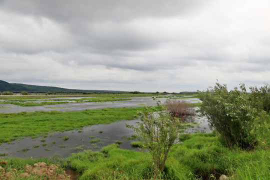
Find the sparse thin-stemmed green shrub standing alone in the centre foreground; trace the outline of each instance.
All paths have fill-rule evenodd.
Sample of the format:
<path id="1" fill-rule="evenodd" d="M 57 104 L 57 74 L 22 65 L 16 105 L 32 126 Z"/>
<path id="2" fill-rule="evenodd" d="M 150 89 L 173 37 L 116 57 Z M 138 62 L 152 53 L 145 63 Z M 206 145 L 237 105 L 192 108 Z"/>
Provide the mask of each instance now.
<path id="1" fill-rule="evenodd" d="M 126 127 L 138 134 L 138 141 L 152 158 L 152 172 L 159 178 L 162 176 L 168 152 L 178 137 L 180 122 L 163 111 L 160 101 L 157 101 L 157 107 L 145 106 L 139 114 L 141 122 L 136 126 L 126 124 Z"/>

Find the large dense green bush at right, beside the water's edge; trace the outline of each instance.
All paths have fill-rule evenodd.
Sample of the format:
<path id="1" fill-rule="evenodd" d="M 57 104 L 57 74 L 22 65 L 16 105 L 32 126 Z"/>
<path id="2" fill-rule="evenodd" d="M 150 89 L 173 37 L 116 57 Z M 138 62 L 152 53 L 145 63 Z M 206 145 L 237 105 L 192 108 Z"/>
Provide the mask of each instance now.
<path id="1" fill-rule="evenodd" d="M 247 148 L 255 139 L 251 129 L 256 110 L 249 104 L 244 84 L 240 89 L 228 91 L 226 84 L 216 82 L 214 87 L 198 91 L 197 96 L 202 101 L 199 111 L 207 116 L 210 127 L 222 135 L 226 144 Z"/>

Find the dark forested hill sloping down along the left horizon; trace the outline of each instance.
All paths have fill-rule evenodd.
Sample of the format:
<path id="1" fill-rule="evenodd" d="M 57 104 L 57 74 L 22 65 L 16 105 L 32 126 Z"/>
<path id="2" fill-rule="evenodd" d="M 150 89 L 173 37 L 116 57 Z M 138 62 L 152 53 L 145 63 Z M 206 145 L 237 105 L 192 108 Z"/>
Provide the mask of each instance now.
<path id="1" fill-rule="evenodd" d="M 8 83 L 6 81 L 0 80 L 0 92 L 10 91 L 10 92 L 123 92 L 117 90 L 81 90 L 81 89 L 67 89 L 61 87 L 53 86 L 42 86 L 42 85 L 29 85 L 22 83 Z"/>

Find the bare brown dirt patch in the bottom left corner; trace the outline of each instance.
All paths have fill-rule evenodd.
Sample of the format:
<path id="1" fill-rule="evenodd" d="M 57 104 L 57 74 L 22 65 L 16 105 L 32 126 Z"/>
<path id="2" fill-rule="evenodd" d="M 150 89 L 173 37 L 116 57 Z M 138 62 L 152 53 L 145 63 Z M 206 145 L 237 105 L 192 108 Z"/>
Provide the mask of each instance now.
<path id="1" fill-rule="evenodd" d="M 26 164 L 21 170 L 9 169 L 6 170 L 0 166 L 0 179 L 44 179 L 44 180 L 72 180 L 70 175 L 67 175 L 59 165 L 46 164 L 45 162 L 37 162 L 33 165 Z"/>

